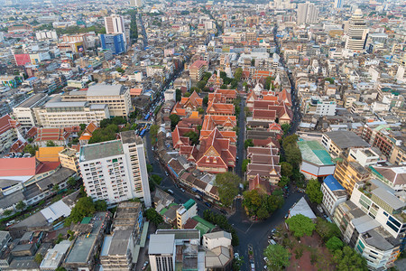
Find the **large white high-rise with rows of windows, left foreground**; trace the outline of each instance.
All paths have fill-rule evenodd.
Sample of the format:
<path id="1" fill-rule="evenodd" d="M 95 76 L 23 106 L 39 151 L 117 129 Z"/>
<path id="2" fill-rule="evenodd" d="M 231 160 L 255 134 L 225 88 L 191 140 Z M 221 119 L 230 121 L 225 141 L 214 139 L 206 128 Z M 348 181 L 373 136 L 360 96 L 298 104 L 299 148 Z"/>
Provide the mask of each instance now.
<path id="1" fill-rule="evenodd" d="M 88 196 L 108 204 L 139 198 L 151 207 L 143 140 L 134 131 L 80 147 L 79 167 Z"/>

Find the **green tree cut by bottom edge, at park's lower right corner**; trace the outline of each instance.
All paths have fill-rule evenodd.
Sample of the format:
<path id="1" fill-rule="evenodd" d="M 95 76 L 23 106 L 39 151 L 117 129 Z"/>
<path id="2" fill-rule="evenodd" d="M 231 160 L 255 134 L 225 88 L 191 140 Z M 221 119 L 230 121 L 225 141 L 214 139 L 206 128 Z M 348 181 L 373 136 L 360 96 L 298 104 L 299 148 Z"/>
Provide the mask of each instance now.
<path id="1" fill-rule="evenodd" d="M 337 249 L 333 254 L 333 260 L 337 264 L 337 270 L 340 271 L 368 270 L 365 258 L 348 246 Z"/>

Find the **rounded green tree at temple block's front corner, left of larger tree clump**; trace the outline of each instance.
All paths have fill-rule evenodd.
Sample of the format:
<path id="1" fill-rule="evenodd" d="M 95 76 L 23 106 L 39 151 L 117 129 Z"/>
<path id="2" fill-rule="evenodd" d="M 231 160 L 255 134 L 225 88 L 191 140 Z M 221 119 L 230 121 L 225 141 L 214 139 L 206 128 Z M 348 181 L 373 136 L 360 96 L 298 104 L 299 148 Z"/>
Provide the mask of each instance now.
<path id="1" fill-rule="evenodd" d="M 225 206 L 231 206 L 235 196 L 238 194 L 240 177 L 234 173 L 219 173 L 216 175 L 218 197 Z"/>

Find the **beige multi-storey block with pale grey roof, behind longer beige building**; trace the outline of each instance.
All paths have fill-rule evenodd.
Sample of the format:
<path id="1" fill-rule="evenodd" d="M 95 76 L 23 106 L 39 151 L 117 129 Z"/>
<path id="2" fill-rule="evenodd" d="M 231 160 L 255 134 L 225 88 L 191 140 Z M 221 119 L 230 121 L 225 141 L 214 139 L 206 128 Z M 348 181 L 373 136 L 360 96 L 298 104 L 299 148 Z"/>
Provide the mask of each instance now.
<path id="1" fill-rule="evenodd" d="M 122 85 L 96 84 L 86 91 L 70 91 L 62 101 L 88 101 L 89 105 L 107 105 L 112 117 L 126 117 L 132 110 L 130 90 Z"/>

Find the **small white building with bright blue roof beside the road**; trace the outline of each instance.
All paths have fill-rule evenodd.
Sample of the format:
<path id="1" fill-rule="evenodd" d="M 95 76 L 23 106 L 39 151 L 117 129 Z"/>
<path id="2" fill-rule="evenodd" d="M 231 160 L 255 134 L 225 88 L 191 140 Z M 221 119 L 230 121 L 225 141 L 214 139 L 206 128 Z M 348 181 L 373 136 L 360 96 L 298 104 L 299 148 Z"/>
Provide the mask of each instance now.
<path id="1" fill-rule="evenodd" d="M 346 201 L 346 189 L 333 175 L 329 175 L 324 179 L 321 185 L 321 192 L 323 192 L 322 203 L 330 215 L 334 214 L 338 204 Z"/>

